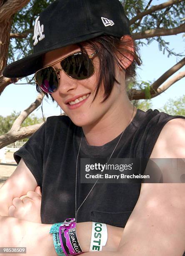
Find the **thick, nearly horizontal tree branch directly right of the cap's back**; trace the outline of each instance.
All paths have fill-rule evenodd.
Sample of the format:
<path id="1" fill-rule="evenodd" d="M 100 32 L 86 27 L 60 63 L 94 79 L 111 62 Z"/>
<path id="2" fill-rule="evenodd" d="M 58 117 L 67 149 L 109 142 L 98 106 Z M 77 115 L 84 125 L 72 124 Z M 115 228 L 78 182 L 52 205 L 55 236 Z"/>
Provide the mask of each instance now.
<path id="1" fill-rule="evenodd" d="M 177 35 L 179 33 L 185 32 L 185 23 L 178 26 L 177 28 L 156 28 L 150 29 L 144 32 L 133 33 L 132 38 L 134 40 L 143 39 L 143 38 L 150 38 L 154 36 L 170 36 L 170 35 Z"/>

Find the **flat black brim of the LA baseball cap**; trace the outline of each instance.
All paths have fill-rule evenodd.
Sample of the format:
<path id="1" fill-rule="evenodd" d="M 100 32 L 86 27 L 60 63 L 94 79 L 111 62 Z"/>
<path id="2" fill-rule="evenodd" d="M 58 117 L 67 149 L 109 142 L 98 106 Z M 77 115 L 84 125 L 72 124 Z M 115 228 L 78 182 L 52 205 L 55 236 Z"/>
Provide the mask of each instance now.
<path id="1" fill-rule="evenodd" d="M 27 77 L 31 74 L 34 74 L 38 69 L 42 68 L 42 56 L 49 52 L 53 51 L 65 46 L 69 46 L 72 44 L 77 44 L 92 38 L 95 38 L 97 36 L 102 35 L 103 32 L 96 32 L 93 34 L 81 36 L 79 38 L 74 38 L 73 40 L 66 41 L 63 43 L 60 43 L 58 45 L 52 46 L 50 48 L 47 48 L 39 53 L 31 54 L 30 56 L 27 56 L 23 59 L 19 59 L 18 61 L 15 61 L 11 64 L 9 64 L 3 71 L 3 76 L 8 78 L 21 78 L 21 77 Z"/>

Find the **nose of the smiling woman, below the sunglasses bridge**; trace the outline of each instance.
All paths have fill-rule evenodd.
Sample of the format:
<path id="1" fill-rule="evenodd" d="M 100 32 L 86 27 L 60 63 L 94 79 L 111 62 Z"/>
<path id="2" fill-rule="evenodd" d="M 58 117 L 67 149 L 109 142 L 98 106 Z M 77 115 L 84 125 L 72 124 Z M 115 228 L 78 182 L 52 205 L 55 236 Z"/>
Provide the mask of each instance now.
<path id="1" fill-rule="evenodd" d="M 67 94 L 70 90 L 77 88 L 77 80 L 69 77 L 62 69 L 58 71 L 59 75 L 59 88 L 58 91 L 61 94 Z"/>

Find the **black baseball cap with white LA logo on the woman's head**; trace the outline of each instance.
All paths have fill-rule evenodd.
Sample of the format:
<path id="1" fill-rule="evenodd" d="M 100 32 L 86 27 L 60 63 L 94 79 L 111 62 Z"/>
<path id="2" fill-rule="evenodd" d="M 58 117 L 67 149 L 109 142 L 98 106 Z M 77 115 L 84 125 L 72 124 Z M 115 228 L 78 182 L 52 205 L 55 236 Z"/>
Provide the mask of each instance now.
<path id="1" fill-rule="evenodd" d="M 129 20 L 119 0 L 55 0 L 35 20 L 33 54 L 8 65 L 4 77 L 34 74 L 43 54 L 95 38 L 130 35 Z"/>

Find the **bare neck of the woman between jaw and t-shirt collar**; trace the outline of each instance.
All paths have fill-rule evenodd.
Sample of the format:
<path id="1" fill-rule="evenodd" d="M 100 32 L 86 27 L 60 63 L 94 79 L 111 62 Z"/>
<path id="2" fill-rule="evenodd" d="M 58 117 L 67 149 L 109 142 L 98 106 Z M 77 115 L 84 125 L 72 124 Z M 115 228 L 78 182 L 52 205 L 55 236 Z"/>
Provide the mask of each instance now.
<path id="1" fill-rule="evenodd" d="M 112 141 L 132 122 L 136 111 L 130 101 L 124 102 L 93 125 L 83 126 L 87 143 L 91 146 L 102 146 Z"/>

